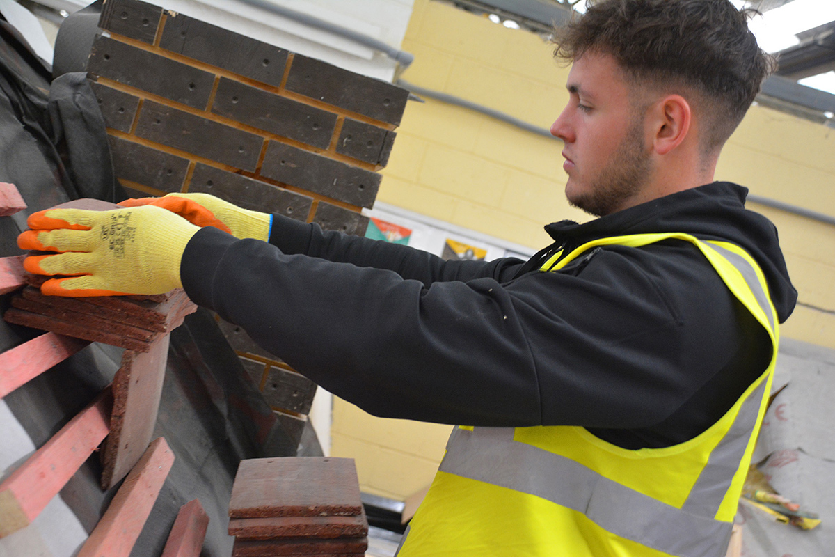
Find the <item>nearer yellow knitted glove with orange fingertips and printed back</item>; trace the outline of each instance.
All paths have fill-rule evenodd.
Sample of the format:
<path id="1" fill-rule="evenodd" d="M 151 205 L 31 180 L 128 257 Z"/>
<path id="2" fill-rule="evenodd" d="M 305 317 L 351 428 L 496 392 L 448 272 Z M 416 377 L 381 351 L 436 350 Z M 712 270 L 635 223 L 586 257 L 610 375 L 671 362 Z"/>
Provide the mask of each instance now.
<path id="1" fill-rule="evenodd" d="M 73 276 L 44 282 L 41 291 L 50 296 L 162 294 L 180 288 L 180 260 L 200 230 L 159 207 L 48 209 L 27 222 L 32 230 L 18 236 L 18 246 L 61 253 L 29 256 L 26 270 Z"/>

